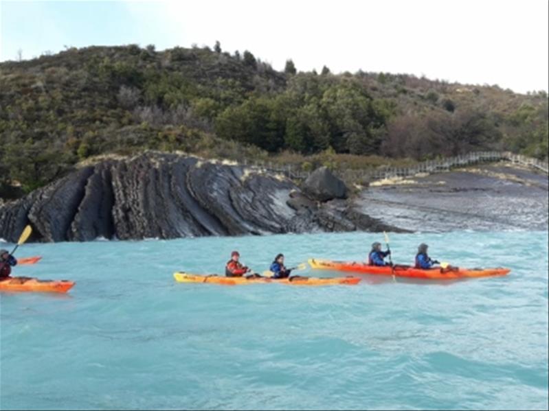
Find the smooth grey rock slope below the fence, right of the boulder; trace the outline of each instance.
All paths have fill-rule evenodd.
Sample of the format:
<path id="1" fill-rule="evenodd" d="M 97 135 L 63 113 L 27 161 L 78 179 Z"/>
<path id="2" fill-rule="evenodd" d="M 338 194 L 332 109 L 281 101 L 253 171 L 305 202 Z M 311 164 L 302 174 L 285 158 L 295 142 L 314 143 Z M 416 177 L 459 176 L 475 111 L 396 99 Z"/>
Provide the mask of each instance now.
<path id="1" fill-rule="evenodd" d="M 548 229 L 548 176 L 504 163 L 375 182 L 355 202 L 410 231 Z"/>

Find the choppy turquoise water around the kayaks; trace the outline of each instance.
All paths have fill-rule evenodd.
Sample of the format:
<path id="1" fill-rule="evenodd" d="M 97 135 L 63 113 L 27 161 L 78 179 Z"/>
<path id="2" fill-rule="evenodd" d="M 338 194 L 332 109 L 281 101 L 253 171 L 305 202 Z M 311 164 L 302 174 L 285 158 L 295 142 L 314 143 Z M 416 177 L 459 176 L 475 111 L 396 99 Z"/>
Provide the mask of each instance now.
<path id="1" fill-rule="evenodd" d="M 0 408 L 548 408 L 548 233 L 392 234 L 507 277 L 355 287 L 175 283 L 232 249 L 261 271 L 279 251 L 361 259 L 370 233 L 25 244 L 18 275 L 66 296 L 0 294 Z M 304 274 L 309 272 L 305 271 Z M 330 272 L 315 272 L 330 275 Z"/>

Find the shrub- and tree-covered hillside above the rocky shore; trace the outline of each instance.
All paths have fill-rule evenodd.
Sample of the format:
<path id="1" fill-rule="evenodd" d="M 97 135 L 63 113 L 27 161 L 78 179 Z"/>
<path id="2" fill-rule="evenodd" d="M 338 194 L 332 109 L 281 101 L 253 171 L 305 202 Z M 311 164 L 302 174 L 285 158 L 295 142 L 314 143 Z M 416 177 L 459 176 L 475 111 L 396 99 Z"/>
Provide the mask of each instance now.
<path id="1" fill-rule="evenodd" d="M 547 121 L 544 92 L 296 73 L 291 62 L 278 72 L 219 44 L 67 49 L 0 64 L 0 196 L 14 183 L 32 191 L 90 156 L 151 149 L 274 161 L 335 152 L 335 161 L 365 164 L 485 149 L 544 158 Z"/>

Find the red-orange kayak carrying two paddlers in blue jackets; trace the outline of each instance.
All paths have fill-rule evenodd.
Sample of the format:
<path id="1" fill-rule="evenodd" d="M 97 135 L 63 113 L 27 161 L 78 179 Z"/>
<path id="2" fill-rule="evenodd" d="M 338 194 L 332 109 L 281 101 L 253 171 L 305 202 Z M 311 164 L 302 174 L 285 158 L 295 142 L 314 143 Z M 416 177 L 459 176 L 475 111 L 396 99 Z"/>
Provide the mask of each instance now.
<path id="1" fill-rule="evenodd" d="M 331 261 L 323 259 L 310 259 L 309 265 L 315 270 L 334 270 L 345 272 L 357 272 L 361 274 L 393 275 L 395 277 L 410 277 L 429 280 L 454 280 L 464 278 L 495 277 L 506 275 L 511 270 L 508 268 L 414 268 L 412 266 L 369 266 L 358 261 Z"/>

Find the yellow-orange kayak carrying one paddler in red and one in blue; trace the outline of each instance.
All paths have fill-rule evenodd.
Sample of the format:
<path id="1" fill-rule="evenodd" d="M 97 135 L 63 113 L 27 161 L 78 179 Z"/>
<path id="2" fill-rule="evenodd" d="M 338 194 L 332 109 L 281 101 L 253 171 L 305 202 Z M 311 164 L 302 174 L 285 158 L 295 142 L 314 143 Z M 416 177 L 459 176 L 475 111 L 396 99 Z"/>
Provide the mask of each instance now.
<path id="1" fill-rule="evenodd" d="M 286 285 L 356 285 L 360 282 L 358 277 L 333 277 L 327 279 L 313 277 L 297 277 L 295 279 L 270 279 L 269 277 L 222 277 L 217 274 L 203 275 L 190 274 L 188 272 L 175 272 L 173 274 L 178 283 L 211 283 L 221 285 L 248 285 L 262 283 L 278 283 Z"/>

